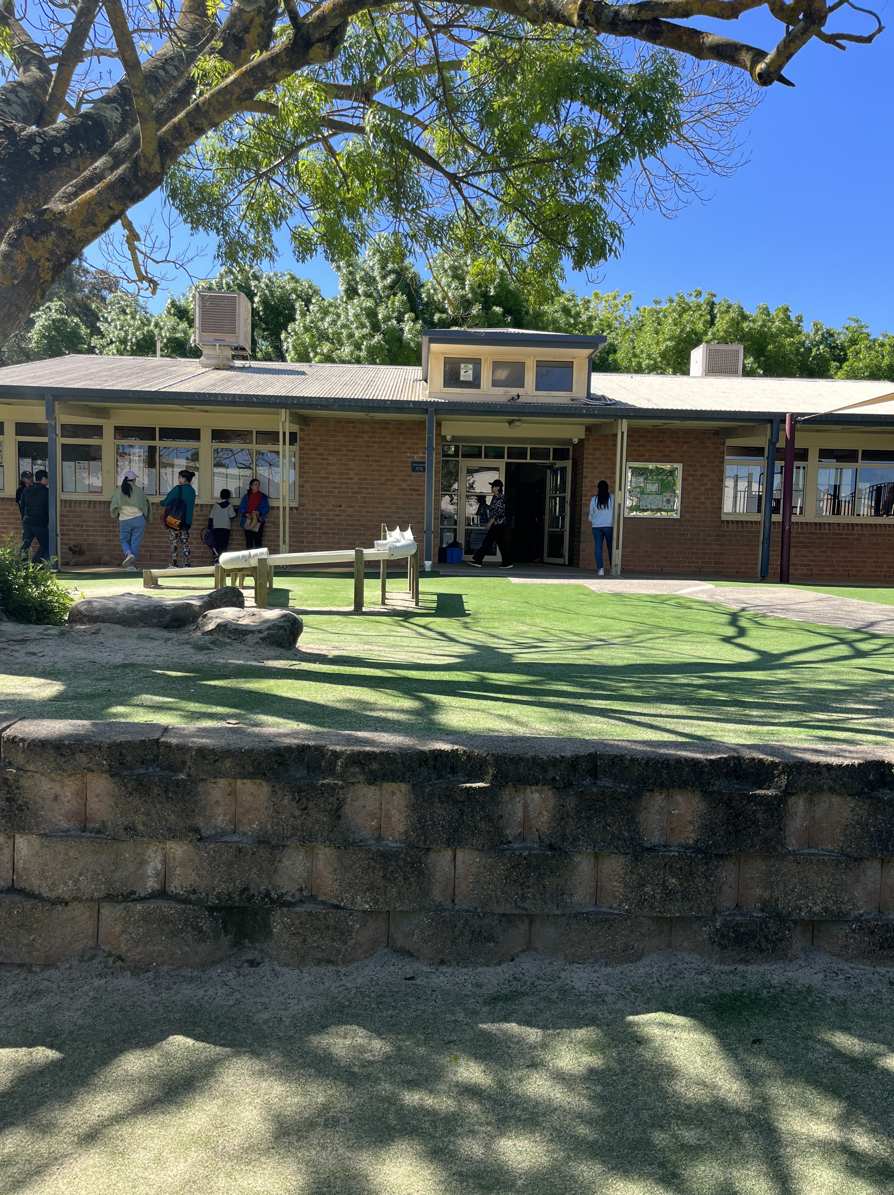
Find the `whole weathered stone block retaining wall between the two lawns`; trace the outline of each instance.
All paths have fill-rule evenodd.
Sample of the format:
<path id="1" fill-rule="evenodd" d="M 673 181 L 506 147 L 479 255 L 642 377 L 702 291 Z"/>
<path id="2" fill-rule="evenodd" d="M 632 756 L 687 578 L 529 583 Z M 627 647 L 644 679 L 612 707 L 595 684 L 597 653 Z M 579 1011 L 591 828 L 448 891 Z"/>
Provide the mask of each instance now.
<path id="1" fill-rule="evenodd" d="M 0 731 L 6 964 L 894 961 L 894 752 Z"/>

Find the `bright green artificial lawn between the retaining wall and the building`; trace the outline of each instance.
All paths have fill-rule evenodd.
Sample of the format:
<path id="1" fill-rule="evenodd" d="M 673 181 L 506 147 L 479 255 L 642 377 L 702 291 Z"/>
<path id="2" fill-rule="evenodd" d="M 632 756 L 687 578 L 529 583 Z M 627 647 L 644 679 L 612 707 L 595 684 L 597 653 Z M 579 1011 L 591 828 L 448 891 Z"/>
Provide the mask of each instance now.
<path id="1" fill-rule="evenodd" d="M 206 587 L 189 580 L 189 589 L 184 578 L 183 590 L 164 592 Z M 0 707 L 25 717 L 237 717 L 412 734 L 887 744 L 894 733 L 887 636 L 502 576 L 423 576 L 421 609 L 390 617 L 325 609 L 350 603 L 349 577 L 278 584 L 307 611 L 306 650 L 290 660 L 239 662 L 233 644 L 182 637 L 173 668 L 125 652 L 114 664 L 73 667 L 41 644 L 24 657 L 32 680 L 19 664 L 0 675 Z M 79 588 L 136 586 L 103 577 Z M 376 600 L 378 580 L 369 580 L 367 601 Z"/>

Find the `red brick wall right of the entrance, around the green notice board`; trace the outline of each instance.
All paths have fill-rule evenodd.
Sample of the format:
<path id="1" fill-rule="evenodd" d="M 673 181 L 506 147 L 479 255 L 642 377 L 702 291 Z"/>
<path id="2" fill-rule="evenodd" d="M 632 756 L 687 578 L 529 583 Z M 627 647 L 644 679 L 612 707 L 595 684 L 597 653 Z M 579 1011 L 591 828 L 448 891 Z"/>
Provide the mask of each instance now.
<path id="1" fill-rule="evenodd" d="M 580 560 L 593 568 L 589 500 L 605 478 L 614 490 L 616 437 L 584 441 Z M 721 519 L 724 443 L 717 431 L 630 428 L 629 461 L 682 464 L 680 517 L 624 520 L 625 572 L 755 577 L 760 522 Z M 773 523 L 770 577 L 779 576 L 779 522 Z M 875 523 L 792 521 L 791 577 L 894 580 L 894 520 Z"/>

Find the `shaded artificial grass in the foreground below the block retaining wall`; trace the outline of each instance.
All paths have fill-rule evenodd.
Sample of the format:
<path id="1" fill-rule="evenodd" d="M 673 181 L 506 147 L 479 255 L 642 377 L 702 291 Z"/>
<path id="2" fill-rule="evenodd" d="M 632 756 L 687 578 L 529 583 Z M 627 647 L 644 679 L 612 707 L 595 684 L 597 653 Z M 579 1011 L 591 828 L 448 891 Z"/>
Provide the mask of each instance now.
<path id="1" fill-rule="evenodd" d="M 0 973 L 2 1195 L 880 1195 L 894 981 L 832 960 Z"/>

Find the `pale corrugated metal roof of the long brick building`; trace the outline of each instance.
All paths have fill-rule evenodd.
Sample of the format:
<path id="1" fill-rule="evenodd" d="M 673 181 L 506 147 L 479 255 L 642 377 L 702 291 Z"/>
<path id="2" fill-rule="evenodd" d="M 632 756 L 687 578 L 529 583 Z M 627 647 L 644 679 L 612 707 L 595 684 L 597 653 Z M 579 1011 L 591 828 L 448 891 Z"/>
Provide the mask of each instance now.
<path id="1" fill-rule="evenodd" d="M 868 399 L 892 396 L 883 403 L 847 412 L 861 422 L 890 421 L 894 386 L 884 381 L 829 381 L 809 378 L 688 378 L 667 374 L 593 374 L 594 405 L 578 402 L 538 403 L 532 398 L 515 407 L 483 394 L 430 399 L 418 366 L 301 364 L 262 362 L 231 369 L 202 369 L 194 358 L 65 356 L 49 361 L 0 368 L 0 393 L 53 393 L 106 402 L 188 402 L 197 396 L 227 402 L 245 397 L 255 403 L 278 405 L 327 404 L 402 405 L 467 410 L 485 415 L 497 411 L 543 412 L 593 418 L 629 413 L 697 418 L 712 415 L 772 416 L 788 411 L 815 415 L 852 406 Z M 598 405 L 599 397 L 607 402 Z"/>

